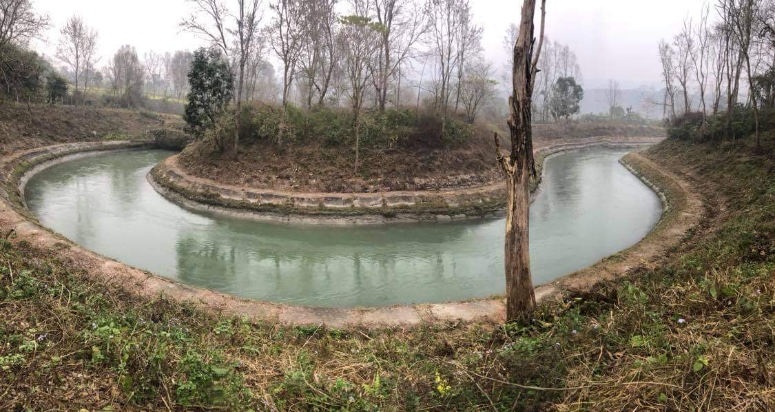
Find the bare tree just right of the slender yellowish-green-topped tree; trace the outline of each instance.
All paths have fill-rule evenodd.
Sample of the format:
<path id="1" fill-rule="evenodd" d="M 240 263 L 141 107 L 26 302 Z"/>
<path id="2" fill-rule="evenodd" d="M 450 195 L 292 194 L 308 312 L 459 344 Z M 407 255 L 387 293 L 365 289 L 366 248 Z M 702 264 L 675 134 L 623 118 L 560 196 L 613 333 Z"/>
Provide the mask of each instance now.
<path id="1" fill-rule="evenodd" d="M 380 32 L 380 49 L 375 64 L 371 65 L 377 108 L 384 111 L 387 89 L 392 78 L 401 82 L 401 65 L 414 57 L 416 46 L 427 31 L 425 15 L 415 0 L 360 0 L 373 2 Z M 398 86 L 400 89 L 400 86 Z M 396 99 L 398 105 L 398 98 Z"/>

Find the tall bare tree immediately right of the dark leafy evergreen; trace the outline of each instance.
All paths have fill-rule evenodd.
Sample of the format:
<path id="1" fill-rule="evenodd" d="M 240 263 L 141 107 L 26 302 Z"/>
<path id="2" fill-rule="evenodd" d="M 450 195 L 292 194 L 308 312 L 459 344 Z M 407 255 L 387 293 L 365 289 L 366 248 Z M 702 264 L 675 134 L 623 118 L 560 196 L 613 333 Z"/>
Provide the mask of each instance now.
<path id="1" fill-rule="evenodd" d="M 245 82 L 245 66 L 263 18 L 260 0 L 236 0 L 236 12 L 229 12 L 219 0 L 188 0 L 195 12 L 181 22 L 181 27 L 202 36 L 212 46 L 223 50 L 232 74 L 236 74 L 236 111 L 234 112 L 234 150 L 239 148 L 239 112 Z M 202 21 L 204 16 L 206 22 Z M 230 24 L 230 22 L 232 24 Z"/>

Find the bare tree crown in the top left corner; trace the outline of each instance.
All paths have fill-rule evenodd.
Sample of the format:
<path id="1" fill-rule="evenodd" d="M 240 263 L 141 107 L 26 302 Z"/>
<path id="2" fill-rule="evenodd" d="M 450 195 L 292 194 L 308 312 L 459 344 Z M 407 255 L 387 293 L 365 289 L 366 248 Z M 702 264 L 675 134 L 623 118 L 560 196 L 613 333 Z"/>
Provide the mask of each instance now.
<path id="1" fill-rule="evenodd" d="M 39 15 L 30 0 L 0 0 L 0 47 L 25 45 L 47 29 L 48 15 Z"/>

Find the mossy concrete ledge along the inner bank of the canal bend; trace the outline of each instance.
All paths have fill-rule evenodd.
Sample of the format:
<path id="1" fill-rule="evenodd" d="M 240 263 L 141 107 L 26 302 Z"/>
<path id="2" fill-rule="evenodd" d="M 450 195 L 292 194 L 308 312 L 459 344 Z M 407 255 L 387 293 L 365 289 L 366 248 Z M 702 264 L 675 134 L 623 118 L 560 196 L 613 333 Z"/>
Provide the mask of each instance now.
<path id="1" fill-rule="evenodd" d="M 654 138 L 591 138 L 549 144 L 536 149 L 536 167 L 557 153 L 591 146 L 639 146 Z M 238 187 L 191 176 L 177 155 L 162 160 L 148 173 L 151 186 L 170 201 L 195 211 L 292 225 L 385 225 L 447 223 L 504 215 L 505 182 L 441 191 L 381 193 L 301 193 Z M 533 189 L 539 187 L 540 178 Z"/>

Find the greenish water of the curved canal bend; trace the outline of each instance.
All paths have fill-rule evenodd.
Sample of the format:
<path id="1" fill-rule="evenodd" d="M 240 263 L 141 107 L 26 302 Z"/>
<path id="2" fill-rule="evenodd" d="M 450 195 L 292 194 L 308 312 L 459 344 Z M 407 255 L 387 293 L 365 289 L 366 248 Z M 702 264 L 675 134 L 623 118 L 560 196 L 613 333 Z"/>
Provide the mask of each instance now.
<path id="1" fill-rule="evenodd" d="M 660 200 L 592 147 L 546 160 L 530 209 L 536 284 L 642 239 Z M 318 307 L 437 303 L 502 294 L 503 219 L 444 225 L 289 226 L 192 212 L 150 187 L 171 153 L 100 153 L 49 167 L 26 185 L 43 225 L 161 276 L 239 297 Z"/>

